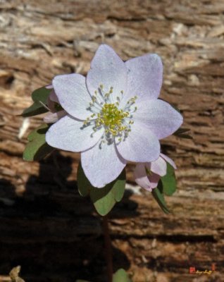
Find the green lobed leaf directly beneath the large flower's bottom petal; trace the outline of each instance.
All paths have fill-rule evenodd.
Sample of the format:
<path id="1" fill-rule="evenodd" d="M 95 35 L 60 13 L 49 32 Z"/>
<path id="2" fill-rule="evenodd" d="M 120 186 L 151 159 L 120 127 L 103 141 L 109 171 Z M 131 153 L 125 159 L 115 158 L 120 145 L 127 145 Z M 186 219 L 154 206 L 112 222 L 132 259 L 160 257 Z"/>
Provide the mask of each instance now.
<path id="1" fill-rule="evenodd" d="M 95 209 L 101 216 L 106 216 L 116 202 L 122 200 L 125 192 L 125 169 L 113 182 L 108 183 L 104 188 L 96 188 L 89 182 L 79 164 L 77 169 L 77 187 L 83 197 L 89 195 Z"/>

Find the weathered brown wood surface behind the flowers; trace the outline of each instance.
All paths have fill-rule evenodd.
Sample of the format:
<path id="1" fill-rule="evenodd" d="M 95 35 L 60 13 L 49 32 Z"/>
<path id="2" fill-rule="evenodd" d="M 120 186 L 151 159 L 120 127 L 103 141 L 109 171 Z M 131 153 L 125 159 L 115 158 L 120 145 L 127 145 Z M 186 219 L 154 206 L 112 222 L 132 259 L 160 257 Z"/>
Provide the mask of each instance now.
<path id="1" fill-rule="evenodd" d="M 161 56 L 161 97 L 178 105 L 194 140 L 169 137 L 178 192 L 164 215 L 150 193 L 127 192 L 110 219 L 114 270 L 134 282 L 224 281 L 223 0 L 0 1 L 0 281 L 13 266 L 29 281 L 106 281 L 101 221 L 75 184 L 78 154 L 22 158 L 30 93 L 61 73 L 86 74 L 101 42 L 124 59 Z M 188 274 L 189 266 L 211 276 Z"/>

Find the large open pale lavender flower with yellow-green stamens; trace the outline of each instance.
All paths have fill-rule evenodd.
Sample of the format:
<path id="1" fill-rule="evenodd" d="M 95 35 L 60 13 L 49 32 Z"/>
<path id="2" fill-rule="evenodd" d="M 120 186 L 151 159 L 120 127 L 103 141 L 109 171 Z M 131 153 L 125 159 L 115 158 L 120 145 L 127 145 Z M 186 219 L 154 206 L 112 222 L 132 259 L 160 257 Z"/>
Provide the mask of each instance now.
<path id="1" fill-rule="evenodd" d="M 158 99 L 163 65 L 156 54 L 123 62 L 102 44 L 87 78 L 57 75 L 52 85 L 66 116 L 51 125 L 51 147 L 81 152 L 81 164 L 97 188 L 116 179 L 127 161 L 158 159 L 160 143 L 182 124 L 182 116 Z"/>

